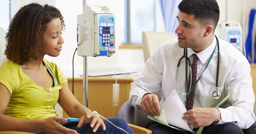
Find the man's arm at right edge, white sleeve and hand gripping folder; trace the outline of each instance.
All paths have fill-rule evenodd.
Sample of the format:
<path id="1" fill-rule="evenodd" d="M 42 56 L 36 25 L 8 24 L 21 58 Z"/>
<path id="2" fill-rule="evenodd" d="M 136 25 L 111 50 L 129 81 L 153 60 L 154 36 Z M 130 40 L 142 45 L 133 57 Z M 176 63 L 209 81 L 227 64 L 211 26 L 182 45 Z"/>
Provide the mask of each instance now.
<path id="1" fill-rule="evenodd" d="M 249 128 L 255 122 L 253 113 L 254 93 L 248 61 L 232 65 L 227 77 L 227 91 L 230 93 L 227 108 L 193 108 L 184 113 L 182 119 L 189 119 L 188 124 L 204 127 L 211 123 L 234 123 L 241 129 Z"/>

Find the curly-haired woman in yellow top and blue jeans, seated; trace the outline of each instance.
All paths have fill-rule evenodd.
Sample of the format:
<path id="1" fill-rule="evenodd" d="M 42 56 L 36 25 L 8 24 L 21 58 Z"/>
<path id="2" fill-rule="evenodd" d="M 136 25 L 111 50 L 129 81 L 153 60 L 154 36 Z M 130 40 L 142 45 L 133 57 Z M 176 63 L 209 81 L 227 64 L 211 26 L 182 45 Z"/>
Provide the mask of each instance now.
<path id="1" fill-rule="evenodd" d="M 4 53 L 8 60 L 0 67 L 0 130 L 124 133 L 81 105 L 60 68 L 44 59 L 44 55 L 60 55 L 63 27 L 60 11 L 47 4 L 28 4 L 12 19 Z M 70 117 L 80 118 L 78 125 L 64 127 L 58 123 L 67 119 L 56 114 L 57 102 Z M 108 120 L 133 133 L 123 119 Z"/>

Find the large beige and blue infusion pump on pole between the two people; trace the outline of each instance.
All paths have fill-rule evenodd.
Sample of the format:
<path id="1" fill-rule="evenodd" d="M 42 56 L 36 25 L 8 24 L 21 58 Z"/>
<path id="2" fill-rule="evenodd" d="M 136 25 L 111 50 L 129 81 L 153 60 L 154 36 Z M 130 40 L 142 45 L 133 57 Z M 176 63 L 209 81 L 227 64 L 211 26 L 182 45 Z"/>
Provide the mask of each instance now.
<path id="1" fill-rule="evenodd" d="M 77 15 L 77 54 L 112 56 L 115 53 L 115 16 L 106 6 L 100 7 L 100 11 L 92 8 L 84 5 L 83 14 Z"/>

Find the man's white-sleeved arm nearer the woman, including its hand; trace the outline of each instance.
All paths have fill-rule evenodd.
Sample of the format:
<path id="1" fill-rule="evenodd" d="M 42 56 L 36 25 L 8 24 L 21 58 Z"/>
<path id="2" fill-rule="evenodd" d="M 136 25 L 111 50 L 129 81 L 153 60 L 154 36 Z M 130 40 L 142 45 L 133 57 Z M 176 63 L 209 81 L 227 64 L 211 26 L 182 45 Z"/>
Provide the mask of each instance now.
<path id="1" fill-rule="evenodd" d="M 145 94 L 149 93 L 148 95 L 153 95 L 153 93 L 156 93 L 159 90 L 161 90 L 163 64 L 164 64 L 163 61 L 164 61 L 164 50 L 163 50 L 163 47 L 160 46 L 159 48 L 156 49 L 154 54 L 146 61 L 144 71 L 140 75 L 140 77 L 137 78 L 134 83 L 132 83 L 132 88 L 130 90 L 130 103 L 132 104 L 133 107 L 137 109 L 143 109 L 146 113 L 151 113 L 151 114 L 154 113 L 152 112 L 154 110 L 151 110 L 150 109 L 151 107 L 149 107 L 149 106 L 152 106 L 152 107 L 154 106 L 152 101 L 148 101 L 147 104 L 143 103 L 145 105 L 148 105 L 148 108 L 149 108 L 148 110 L 151 112 L 149 112 L 146 109 L 146 107 L 144 107 L 145 105 L 143 107 L 141 106 L 141 101 L 142 101 L 142 97 Z M 158 102 L 155 101 L 155 103 L 159 105 L 159 109 L 160 109 L 158 97 L 157 97 L 157 101 Z"/>

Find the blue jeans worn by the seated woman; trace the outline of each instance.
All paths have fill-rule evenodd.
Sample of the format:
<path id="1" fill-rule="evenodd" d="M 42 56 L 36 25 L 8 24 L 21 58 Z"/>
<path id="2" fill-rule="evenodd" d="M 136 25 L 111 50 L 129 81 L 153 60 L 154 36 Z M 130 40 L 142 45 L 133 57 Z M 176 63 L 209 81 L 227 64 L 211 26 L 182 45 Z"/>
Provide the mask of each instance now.
<path id="1" fill-rule="evenodd" d="M 124 129 L 129 134 L 134 134 L 132 129 L 128 126 L 128 124 L 122 118 L 107 118 L 110 122 L 115 124 L 116 126 Z M 93 128 L 90 127 L 90 123 L 84 123 L 82 127 L 77 128 L 77 124 L 66 126 L 69 129 L 76 130 L 80 134 L 126 134 L 124 131 L 114 127 L 105 119 L 103 120 L 106 125 L 106 130 L 103 131 L 100 126 L 99 129 L 94 133 L 92 131 Z M 37 134 L 47 134 L 46 132 L 37 132 Z"/>

